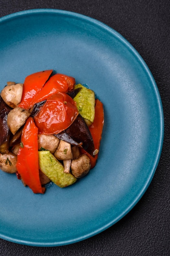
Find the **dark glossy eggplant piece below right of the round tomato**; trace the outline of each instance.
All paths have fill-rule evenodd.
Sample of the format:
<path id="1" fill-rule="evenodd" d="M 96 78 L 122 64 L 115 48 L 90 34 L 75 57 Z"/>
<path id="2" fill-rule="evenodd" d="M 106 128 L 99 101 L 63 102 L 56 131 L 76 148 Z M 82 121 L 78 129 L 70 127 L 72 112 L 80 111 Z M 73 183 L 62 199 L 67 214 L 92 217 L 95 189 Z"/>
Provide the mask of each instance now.
<path id="1" fill-rule="evenodd" d="M 87 124 L 80 114 L 67 129 L 55 134 L 55 136 L 74 146 L 76 145 L 83 148 L 87 153 L 94 157 L 94 141 Z"/>

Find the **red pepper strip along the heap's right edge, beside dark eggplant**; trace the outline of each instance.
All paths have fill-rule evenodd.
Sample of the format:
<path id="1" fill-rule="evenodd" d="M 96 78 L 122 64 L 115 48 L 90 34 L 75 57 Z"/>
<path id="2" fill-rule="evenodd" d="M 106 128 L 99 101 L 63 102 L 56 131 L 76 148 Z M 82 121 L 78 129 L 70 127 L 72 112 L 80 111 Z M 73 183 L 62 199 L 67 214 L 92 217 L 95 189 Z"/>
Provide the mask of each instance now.
<path id="1" fill-rule="evenodd" d="M 96 165 L 96 161 L 98 159 L 98 150 L 100 148 L 100 141 L 102 139 L 103 125 L 104 125 L 103 104 L 101 101 L 96 99 L 94 122 L 91 126 L 89 126 L 89 130 L 92 134 L 92 138 L 94 141 L 94 148 L 95 148 L 97 154 L 94 155 L 94 157 L 92 157 L 83 148 L 80 149 L 81 153 L 88 155 L 88 157 L 90 158 L 91 169 Z"/>

